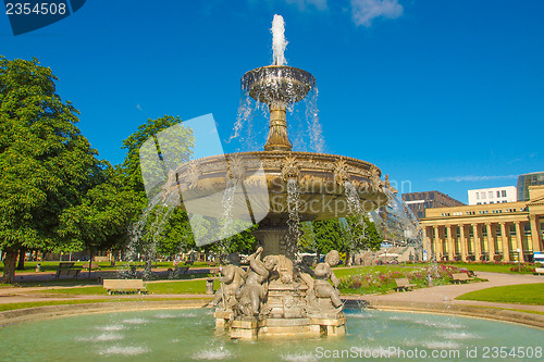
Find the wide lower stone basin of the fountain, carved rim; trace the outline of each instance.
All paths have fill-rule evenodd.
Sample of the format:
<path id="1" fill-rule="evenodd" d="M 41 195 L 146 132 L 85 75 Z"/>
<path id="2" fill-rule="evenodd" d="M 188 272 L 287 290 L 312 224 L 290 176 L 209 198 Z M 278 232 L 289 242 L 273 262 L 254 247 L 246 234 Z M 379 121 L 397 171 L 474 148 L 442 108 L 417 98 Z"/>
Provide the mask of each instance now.
<path id="1" fill-rule="evenodd" d="M 286 221 L 288 178 L 298 183 L 301 221 L 348 215 L 346 180 L 356 187 L 363 211 L 387 202 L 380 168 L 366 161 L 325 153 L 231 153 L 190 161 L 175 173 L 177 180 L 171 179 L 165 189 L 181 195 L 180 205 L 188 212 L 211 217 L 222 217 L 222 200 L 232 177 L 242 180 L 232 202 L 232 217 L 239 220 L 247 220 L 249 205 L 256 215 L 254 221 L 265 216 L 277 223 Z"/>

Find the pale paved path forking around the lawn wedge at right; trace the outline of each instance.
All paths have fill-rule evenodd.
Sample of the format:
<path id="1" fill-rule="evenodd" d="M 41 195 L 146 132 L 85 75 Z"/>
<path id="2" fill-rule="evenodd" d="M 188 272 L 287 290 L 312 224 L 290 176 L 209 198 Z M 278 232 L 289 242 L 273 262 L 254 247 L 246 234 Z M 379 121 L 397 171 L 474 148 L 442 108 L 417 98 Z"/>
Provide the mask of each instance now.
<path id="1" fill-rule="evenodd" d="M 412 291 L 390 292 L 386 295 L 363 296 L 362 299 L 375 303 L 444 303 L 444 304 L 462 304 L 462 305 L 480 305 L 494 307 L 503 309 L 519 309 L 544 312 L 544 305 L 524 305 L 524 304 L 507 304 L 507 303 L 491 303 L 483 301 L 471 300 L 455 300 L 456 297 L 469 291 L 480 290 L 491 287 L 498 287 L 515 284 L 532 284 L 544 283 L 544 277 L 540 275 L 528 274 L 503 274 L 477 272 L 478 277 L 487 279 L 489 282 L 470 283 L 470 284 L 452 284 L 431 288 L 415 289 Z"/>

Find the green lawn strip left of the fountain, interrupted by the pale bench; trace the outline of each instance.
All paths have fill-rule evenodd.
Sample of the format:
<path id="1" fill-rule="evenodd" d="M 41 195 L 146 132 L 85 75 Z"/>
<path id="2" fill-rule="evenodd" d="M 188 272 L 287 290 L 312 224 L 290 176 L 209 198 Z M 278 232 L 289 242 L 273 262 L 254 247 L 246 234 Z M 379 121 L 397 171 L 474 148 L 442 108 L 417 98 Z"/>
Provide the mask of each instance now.
<path id="1" fill-rule="evenodd" d="M 219 282 L 214 280 L 214 290 L 219 288 Z M 183 280 L 183 282 L 164 282 L 164 283 L 145 283 L 148 294 L 150 295 L 184 295 L 184 294 L 205 294 L 206 279 L 200 280 Z M 108 291 L 102 286 L 88 286 L 78 288 L 59 288 L 47 290 L 33 290 L 29 294 L 54 294 L 70 296 L 89 296 L 89 295 L 108 295 Z"/>

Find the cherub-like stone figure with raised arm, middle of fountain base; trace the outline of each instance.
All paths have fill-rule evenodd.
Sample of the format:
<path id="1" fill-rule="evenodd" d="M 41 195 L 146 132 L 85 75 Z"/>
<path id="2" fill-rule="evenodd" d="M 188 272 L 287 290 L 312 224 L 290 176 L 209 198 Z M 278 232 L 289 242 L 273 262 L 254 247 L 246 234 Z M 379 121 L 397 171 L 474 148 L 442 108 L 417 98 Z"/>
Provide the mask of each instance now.
<path id="1" fill-rule="evenodd" d="M 267 280 L 270 273 L 277 264 L 274 255 L 268 255 L 261 261 L 262 247 L 248 257 L 249 271 L 246 283 L 236 291 L 238 311 L 245 316 L 257 317 L 260 313 L 261 302 L 267 298 Z"/>

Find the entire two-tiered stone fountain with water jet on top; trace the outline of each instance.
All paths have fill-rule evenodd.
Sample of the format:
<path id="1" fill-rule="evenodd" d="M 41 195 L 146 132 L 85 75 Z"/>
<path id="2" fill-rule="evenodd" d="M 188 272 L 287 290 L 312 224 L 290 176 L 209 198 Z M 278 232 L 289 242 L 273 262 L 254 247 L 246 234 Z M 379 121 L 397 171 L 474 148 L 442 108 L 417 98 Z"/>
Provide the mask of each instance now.
<path id="1" fill-rule="evenodd" d="M 274 16 L 273 65 L 242 77 L 243 90 L 270 111 L 264 151 L 190 161 L 178 166 L 177 176 L 163 188 L 182 195 L 182 208 L 205 216 L 219 217 L 218 199 L 211 200 L 210 195 L 224 195 L 222 203 L 234 220 L 256 223 L 255 215 L 263 215 L 254 232 L 260 247 L 248 258 L 249 270 L 239 278 L 236 263 L 225 267 L 215 298 L 217 327 L 228 328 L 232 338 L 344 335 L 338 280 L 331 271 L 338 253 L 330 252 L 314 271 L 297 263 L 299 224 L 370 212 L 387 202 L 375 165 L 292 150 L 287 109 L 307 96 L 316 79 L 304 70 L 284 65 L 283 29 L 283 18 Z"/>

